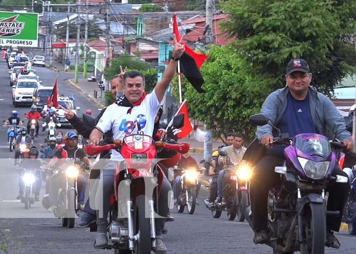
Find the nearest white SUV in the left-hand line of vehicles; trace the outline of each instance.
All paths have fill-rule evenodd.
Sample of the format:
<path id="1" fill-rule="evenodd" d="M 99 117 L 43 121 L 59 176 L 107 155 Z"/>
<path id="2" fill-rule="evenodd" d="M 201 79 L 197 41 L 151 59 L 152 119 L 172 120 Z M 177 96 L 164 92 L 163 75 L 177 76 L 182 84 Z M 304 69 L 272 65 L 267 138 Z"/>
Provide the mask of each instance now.
<path id="1" fill-rule="evenodd" d="M 40 86 L 40 82 L 33 79 L 20 79 L 16 85 L 12 86 L 12 104 L 17 107 L 19 103 L 33 103 L 35 89 Z"/>

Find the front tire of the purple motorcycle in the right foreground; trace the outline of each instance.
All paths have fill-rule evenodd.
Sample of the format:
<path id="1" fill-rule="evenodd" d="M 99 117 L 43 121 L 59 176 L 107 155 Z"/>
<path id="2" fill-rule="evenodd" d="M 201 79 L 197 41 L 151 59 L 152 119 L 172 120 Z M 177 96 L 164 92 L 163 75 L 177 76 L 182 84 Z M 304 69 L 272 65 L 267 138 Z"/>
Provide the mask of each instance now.
<path id="1" fill-rule="evenodd" d="M 324 254 L 327 219 L 322 203 L 309 203 L 303 214 L 306 240 L 301 243 L 301 254 Z"/>

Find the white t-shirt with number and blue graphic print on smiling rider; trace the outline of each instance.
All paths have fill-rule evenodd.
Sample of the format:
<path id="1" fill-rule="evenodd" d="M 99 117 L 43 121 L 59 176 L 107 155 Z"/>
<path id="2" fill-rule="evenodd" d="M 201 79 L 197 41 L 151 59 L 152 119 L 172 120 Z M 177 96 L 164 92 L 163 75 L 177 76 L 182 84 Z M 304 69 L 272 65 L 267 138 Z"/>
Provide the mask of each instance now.
<path id="1" fill-rule="evenodd" d="M 163 101 L 164 99 L 161 103 L 158 102 L 156 92 L 153 91 L 146 95 L 140 105 L 131 109 L 131 114 L 127 113 L 130 107 L 112 104 L 107 107 L 101 116 L 97 128 L 103 133 L 112 129 L 113 138 L 120 140 L 123 140 L 125 136 L 136 134 L 138 131 L 152 136 L 155 117 Z M 112 151 L 110 159 L 115 161 L 124 160 L 121 154 L 115 150 Z"/>

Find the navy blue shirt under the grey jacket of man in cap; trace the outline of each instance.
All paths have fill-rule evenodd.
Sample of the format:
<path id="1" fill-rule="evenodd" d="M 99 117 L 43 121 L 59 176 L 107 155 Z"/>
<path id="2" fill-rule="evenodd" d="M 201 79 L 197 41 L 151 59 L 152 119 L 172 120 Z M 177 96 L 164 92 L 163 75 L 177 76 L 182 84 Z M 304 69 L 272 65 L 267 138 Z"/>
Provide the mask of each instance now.
<path id="1" fill-rule="evenodd" d="M 310 113 L 309 93 L 304 100 L 294 99 L 288 92 L 287 108 L 278 123 L 281 133 L 289 133 L 289 137 L 301 133 L 317 133 Z"/>

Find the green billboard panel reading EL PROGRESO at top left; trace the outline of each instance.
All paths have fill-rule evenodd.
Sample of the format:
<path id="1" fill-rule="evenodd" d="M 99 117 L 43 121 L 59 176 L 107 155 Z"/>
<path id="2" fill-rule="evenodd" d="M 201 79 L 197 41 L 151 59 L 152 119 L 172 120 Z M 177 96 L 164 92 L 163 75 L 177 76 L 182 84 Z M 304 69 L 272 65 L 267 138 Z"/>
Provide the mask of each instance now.
<path id="1" fill-rule="evenodd" d="M 38 13 L 0 12 L 0 45 L 37 47 Z"/>

